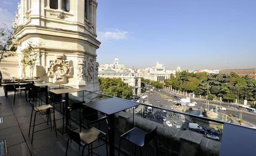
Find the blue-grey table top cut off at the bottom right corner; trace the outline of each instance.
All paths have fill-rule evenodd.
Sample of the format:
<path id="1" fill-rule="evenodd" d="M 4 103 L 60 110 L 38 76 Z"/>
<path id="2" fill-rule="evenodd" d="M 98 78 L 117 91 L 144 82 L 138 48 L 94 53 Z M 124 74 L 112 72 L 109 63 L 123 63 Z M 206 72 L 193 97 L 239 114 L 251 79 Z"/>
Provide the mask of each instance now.
<path id="1" fill-rule="evenodd" d="M 255 155 L 256 129 L 224 123 L 221 155 Z"/>

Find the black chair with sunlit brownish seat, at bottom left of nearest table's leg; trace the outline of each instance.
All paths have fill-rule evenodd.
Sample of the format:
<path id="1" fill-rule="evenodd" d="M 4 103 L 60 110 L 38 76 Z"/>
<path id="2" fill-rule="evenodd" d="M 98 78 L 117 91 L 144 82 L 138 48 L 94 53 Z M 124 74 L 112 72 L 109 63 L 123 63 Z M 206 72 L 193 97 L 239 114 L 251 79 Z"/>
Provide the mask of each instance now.
<path id="1" fill-rule="evenodd" d="M 69 127 L 67 127 L 67 134 L 69 136 L 69 139 L 67 139 L 66 156 L 67 156 L 67 149 L 69 147 L 69 141 L 71 142 L 71 140 L 73 140 L 77 144 L 79 144 L 79 149 L 80 149 L 80 147 L 83 147 L 82 156 L 84 154 L 84 150 L 85 150 L 86 146 L 88 146 L 88 154 L 87 155 L 90 155 L 90 154 L 93 155 L 93 154 L 95 154 L 93 152 L 93 149 L 103 146 L 104 144 L 106 144 L 106 153 L 108 155 L 108 143 L 107 142 L 105 142 L 104 144 L 101 144 L 100 146 L 93 147 L 93 142 L 95 142 L 101 138 L 105 138 L 105 141 L 107 141 L 106 134 L 103 133 L 102 131 L 100 131 L 99 129 L 90 128 L 90 129 L 85 129 L 85 130 L 81 131 L 80 133 L 77 133 L 75 131 L 72 131 L 72 129 L 70 129 Z M 96 154 L 96 155 L 98 155 L 98 154 Z"/>

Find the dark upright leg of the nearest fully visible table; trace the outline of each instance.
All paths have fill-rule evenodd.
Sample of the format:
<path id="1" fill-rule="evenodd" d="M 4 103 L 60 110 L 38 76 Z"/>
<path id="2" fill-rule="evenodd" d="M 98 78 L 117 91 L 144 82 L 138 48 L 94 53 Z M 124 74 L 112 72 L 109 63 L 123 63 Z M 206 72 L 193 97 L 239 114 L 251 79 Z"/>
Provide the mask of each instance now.
<path id="1" fill-rule="evenodd" d="M 109 119 L 109 155 L 114 155 L 114 114 L 108 116 Z"/>

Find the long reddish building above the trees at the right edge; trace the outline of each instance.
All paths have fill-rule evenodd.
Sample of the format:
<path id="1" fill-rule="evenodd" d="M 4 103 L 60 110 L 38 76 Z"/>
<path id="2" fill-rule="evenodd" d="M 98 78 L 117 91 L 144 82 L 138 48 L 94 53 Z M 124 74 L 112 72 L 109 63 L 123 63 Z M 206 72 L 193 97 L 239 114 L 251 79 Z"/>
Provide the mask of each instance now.
<path id="1" fill-rule="evenodd" d="M 244 77 L 248 76 L 256 80 L 256 68 L 249 68 L 249 69 L 228 69 L 228 70 L 221 70 L 220 73 L 230 74 L 230 73 L 237 73 L 237 75 Z"/>

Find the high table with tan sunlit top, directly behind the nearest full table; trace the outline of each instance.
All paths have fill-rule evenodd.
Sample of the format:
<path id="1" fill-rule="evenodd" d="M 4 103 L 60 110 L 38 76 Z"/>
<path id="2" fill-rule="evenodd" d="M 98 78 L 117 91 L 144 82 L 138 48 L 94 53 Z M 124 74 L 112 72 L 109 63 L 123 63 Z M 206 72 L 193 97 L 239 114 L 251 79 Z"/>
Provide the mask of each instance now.
<path id="1" fill-rule="evenodd" d="M 69 110 L 67 109 L 67 107 L 69 107 L 69 93 L 70 92 L 80 92 L 80 91 L 84 91 L 83 89 L 78 89 L 78 88 L 65 88 L 65 89 L 54 89 L 54 90 L 50 90 L 50 92 L 53 92 L 54 94 L 65 94 L 65 112 L 66 112 L 66 129 L 63 129 L 63 131 L 61 131 L 62 134 L 66 133 L 67 130 L 67 124 L 69 123 Z"/>

